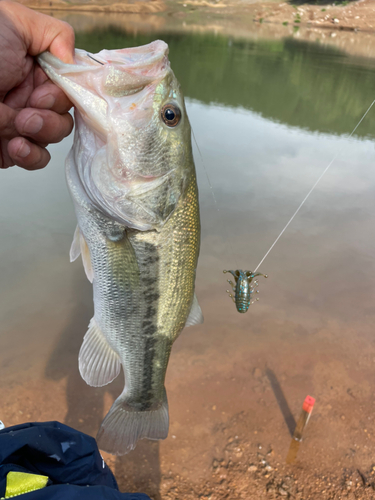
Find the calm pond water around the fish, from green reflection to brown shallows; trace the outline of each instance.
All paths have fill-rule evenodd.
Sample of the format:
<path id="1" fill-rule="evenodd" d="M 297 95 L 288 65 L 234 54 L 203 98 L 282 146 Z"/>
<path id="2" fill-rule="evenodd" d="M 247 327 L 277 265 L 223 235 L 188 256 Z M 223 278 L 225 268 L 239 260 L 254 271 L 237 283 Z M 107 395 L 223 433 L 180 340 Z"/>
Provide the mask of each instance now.
<path id="1" fill-rule="evenodd" d="M 274 469 L 284 467 L 308 394 L 316 405 L 288 474 L 367 474 L 375 439 L 375 107 L 349 136 L 375 97 L 374 61 L 292 38 L 118 27 L 80 31 L 76 45 L 96 52 L 155 38 L 170 46 L 201 153 L 195 147 L 205 323 L 172 351 L 168 439 L 106 456 L 121 489 L 177 498 L 177 478 L 181 498 L 197 498 L 209 481 L 207 498 L 250 498 L 250 473 L 240 493 L 229 465 L 243 472 L 237 485 L 259 447 L 272 449 Z M 71 141 L 51 146 L 44 171 L 1 172 L 0 419 L 60 420 L 95 435 L 122 381 L 93 389 L 78 373 L 92 292 L 81 262 L 68 258 Z M 240 315 L 223 269 L 254 269 L 335 157 L 261 266 L 269 278 L 260 279 L 259 303 Z M 211 479 L 216 460 L 227 468 L 220 481 Z"/>

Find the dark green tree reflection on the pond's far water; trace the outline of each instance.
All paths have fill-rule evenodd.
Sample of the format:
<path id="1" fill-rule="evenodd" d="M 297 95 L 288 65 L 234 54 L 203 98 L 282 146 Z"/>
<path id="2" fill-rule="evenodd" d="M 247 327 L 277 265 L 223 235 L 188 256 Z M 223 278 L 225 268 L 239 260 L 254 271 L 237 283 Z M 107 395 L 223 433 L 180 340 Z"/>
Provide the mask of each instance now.
<path id="1" fill-rule="evenodd" d="M 375 65 L 319 43 L 292 38 L 234 40 L 211 34 L 133 35 L 110 28 L 77 33 L 90 52 L 143 45 L 160 38 L 186 97 L 242 107 L 302 129 L 349 134 L 374 99 Z M 375 113 L 356 132 L 373 137 Z"/>

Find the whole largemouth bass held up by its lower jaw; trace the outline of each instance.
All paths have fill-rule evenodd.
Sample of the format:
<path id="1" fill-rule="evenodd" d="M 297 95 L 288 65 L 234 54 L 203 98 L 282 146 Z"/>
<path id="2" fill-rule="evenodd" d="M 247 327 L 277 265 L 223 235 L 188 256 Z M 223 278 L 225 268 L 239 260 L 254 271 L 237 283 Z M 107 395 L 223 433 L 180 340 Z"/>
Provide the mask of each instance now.
<path id="1" fill-rule="evenodd" d="M 164 439 L 164 387 L 172 344 L 201 323 L 194 294 L 200 244 L 191 130 L 168 46 L 76 50 L 74 65 L 49 53 L 39 63 L 75 105 L 66 176 L 95 313 L 79 353 L 91 386 L 125 373 L 125 387 L 98 432 L 122 455 L 138 439 Z"/>

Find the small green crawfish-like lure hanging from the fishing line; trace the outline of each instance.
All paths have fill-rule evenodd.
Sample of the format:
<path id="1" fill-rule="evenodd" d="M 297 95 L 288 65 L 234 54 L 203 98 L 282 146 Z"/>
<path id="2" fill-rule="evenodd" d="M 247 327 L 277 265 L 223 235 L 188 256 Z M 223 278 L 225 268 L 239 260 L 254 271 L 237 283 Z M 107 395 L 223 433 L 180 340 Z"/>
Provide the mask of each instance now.
<path id="1" fill-rule="evenodd" d="M 231 273 L 235 279 L 235 283 L 231 280 L 227 280 L 232 286 L 234 295 L 230 293 L 230 290 L 227 290 L 227 293 L 229 293 L 229 297 L 231 297 L 233 302 L 236 304 L 237 311 L 240 313 L 247 312 L 250 304 L 259 300 L 258 298 L 251 300 L 253 293 L 259 293 L 259 290 L 254 289 L 254 286 L 258 286 L 258 281 L 256 279 L 254 280 L 254 278 L 257 276 L 264 276 L 267 278 L 267 274 L 242 271 L 242 269 L 237 269 L 236 271 L 224 270 L 223 272 Z"/>

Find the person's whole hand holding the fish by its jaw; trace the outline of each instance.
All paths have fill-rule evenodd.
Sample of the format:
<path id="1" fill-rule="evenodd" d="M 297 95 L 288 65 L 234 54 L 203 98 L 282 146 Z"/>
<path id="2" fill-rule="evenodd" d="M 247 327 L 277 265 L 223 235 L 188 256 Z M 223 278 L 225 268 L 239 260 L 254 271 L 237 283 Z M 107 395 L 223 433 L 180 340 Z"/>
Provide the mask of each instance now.
<path id="1" fill-rule="evenodd" d="M 0 0 L 0 168 L 45 167 L 50 160 L 46 146 L 72 131 L 72 103 L 33 57 L 45 50 L 73 63 L 73 28 Z"/>

